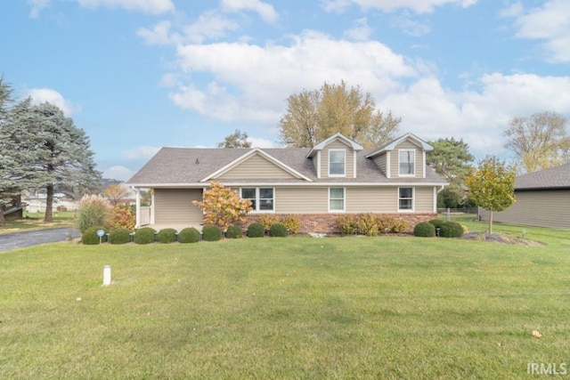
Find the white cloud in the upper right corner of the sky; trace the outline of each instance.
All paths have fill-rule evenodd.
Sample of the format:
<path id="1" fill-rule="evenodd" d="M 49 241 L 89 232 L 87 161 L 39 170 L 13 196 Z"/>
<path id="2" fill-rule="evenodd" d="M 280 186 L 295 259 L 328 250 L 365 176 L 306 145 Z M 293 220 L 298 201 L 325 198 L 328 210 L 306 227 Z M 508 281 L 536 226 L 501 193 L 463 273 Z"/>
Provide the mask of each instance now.
<path id="1" fill-rule="evenodd" d="M 515 4 L 501 14 L 515 17 L 517 37 L 543 41 L 550 61 L 570 62 L 570 2 L 551 0 L 528 12 Z"/>

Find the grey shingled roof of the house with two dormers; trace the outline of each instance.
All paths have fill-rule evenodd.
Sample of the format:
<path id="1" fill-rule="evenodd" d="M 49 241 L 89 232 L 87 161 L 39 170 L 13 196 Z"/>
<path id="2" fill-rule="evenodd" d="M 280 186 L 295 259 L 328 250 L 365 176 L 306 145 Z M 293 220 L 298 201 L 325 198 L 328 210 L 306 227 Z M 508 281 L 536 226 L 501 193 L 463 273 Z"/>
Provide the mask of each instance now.
<path id="1" fill-rule="evenodd" d="M 356 155 L 356 176 L 357 178 L 317 178 L 312 159 L 306 158 L 310 151 L 308 148 L 272 148 L 262 149 L 265 153 L 281 161 L 281 163 L 305 175 L 314 182 L 372 182 L 390 183 L 403 182 L 403 179 L 388 179 L 382 173 L 371 158 L 366 158 L 373 150 L 361 150 Z M 232 163 L 237 158 L 248 153 L 247 149 L 203 149 L 203 148 L 162 148 L 142 166 L 134 176 L 127 182 L 133 185 L 151 184 L 196 184 L 200 180 L 208 177 L 209 174 Z M 264 180 L 244 178 L 232 180 L 232 182 L 305 182 L 304 180 Z M 406 178 L 405 182 L 430 182 L 441 183 L 445 181 L 428 167 L 426 178 Z"/>

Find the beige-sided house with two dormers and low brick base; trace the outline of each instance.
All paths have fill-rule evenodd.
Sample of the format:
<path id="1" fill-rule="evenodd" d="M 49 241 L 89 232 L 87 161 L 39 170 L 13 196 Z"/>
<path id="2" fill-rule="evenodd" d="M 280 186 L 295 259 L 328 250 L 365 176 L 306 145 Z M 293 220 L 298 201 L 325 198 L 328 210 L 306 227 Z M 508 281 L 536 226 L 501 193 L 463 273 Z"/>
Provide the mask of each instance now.
<path id="1" fill-rule="evenodd" d="M 342 214 L 389 214 L 411 228 L 436 218 L 437 192 L 447 184 L 426 165 L 426 141 L 407 133 L 365 150 L 337 133 L 313 148 L 162 148 L 127 183 L 136 192 L 137 226 L 199 226 L 209 182 L 252 201 L 247 226 L 260 215 L 297 215 L 302 232 L 336 232 Z M 140 192 L 151 189 L 151 207 Z"/>

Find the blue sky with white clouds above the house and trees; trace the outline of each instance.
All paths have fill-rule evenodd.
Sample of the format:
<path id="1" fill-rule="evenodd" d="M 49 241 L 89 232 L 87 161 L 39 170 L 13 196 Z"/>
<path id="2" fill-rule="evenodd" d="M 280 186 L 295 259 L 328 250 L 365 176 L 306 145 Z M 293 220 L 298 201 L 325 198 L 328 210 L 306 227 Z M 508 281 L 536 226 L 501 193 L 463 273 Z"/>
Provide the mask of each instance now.
<path id="1" fill-rule="evenodd" d="M 162 146 L 235 129 L 277 146 L 287 97 L 360 85 L 400 132 L 508 158 L 511 117 L 570 117 L 567 0 L 10 0 L 0 73 L 127 180 Z"/>

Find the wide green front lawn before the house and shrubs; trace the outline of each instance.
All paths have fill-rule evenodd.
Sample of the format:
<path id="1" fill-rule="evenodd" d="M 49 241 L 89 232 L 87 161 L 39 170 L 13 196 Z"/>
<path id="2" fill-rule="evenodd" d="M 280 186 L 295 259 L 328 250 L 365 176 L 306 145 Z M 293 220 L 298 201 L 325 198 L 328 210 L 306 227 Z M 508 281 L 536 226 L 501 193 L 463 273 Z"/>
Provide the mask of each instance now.
<path id="1" fill-rule="evenodd" d="M 12 251 L 0 255 L 0 378 L 525 377 L 529 362 L 569 360 L 570 239 L 541 239 Z"/>

